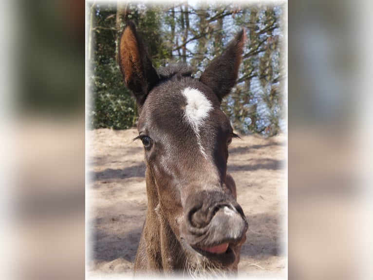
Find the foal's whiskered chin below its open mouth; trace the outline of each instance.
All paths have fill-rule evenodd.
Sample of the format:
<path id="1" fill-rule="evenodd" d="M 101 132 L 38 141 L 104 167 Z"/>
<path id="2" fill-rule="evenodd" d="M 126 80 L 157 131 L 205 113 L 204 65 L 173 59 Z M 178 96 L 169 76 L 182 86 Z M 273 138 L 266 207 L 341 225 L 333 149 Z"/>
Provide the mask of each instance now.
<path id="1" fill-rule="evenodd" d="M 234 245 L 229 244 L 224 253 L 214 254 L 192 247 L 183 238 L 180 243 L 186 253 L 186 270 L 192 278 L 222 278 L 234 275 L 232 264 L 237 258 Z"/>

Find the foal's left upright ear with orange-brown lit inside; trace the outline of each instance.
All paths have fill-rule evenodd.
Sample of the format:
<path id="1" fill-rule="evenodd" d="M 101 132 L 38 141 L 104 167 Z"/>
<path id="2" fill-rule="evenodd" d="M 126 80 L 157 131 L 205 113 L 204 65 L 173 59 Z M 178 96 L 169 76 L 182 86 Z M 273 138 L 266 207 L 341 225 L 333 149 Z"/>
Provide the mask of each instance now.
<path id="1" fill-rule="evenodd" d="M 126 86 L 132 91 L 141 108 L 159 78 L 131 20 L 127 22 L 120 38 L 119 65 Z"/>

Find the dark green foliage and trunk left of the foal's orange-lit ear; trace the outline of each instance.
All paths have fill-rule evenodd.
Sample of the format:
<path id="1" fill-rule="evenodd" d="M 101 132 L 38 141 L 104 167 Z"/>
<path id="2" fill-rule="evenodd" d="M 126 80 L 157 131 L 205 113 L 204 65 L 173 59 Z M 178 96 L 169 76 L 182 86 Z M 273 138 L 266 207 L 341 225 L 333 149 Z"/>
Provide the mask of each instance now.
<path id="1" fill-rule="evenodd" d="M 92 128 L 126 129 L 134 124 L 136 108 L 125 88 L 116 62 L 115 7 L 95 7 L 94 56 L 89 77 L 92 104 L 88 108 Z"/>

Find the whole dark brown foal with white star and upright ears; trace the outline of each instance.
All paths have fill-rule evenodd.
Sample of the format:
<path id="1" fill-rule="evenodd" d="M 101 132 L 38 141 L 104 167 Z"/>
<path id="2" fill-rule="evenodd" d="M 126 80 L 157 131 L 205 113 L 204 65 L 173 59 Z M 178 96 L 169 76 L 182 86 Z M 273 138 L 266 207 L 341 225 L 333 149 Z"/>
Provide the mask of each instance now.
<path id="1" fill-rule="evenodd" d="M 136 139 L 145 149 L 148 211 L 135 274 L 237 274 L 247 222 L 227 174 L 236 137 L 220 109 L 235 85 L 243 30 L 200 79 L 184 64 L 153 68 L 128 22 L 120 67 L 139 108 Z"/>

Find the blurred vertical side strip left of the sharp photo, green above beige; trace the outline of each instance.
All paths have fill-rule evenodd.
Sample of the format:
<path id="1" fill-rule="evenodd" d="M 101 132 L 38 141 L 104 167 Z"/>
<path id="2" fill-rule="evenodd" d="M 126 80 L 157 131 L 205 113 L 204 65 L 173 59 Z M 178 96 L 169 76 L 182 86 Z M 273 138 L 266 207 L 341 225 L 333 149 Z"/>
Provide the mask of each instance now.
<path id="1" fill-rule="evenodd" d="M 1 3 L 1 279 L 83 279 L 84 1 Z"/>

